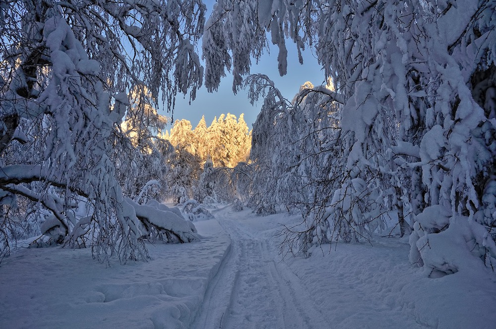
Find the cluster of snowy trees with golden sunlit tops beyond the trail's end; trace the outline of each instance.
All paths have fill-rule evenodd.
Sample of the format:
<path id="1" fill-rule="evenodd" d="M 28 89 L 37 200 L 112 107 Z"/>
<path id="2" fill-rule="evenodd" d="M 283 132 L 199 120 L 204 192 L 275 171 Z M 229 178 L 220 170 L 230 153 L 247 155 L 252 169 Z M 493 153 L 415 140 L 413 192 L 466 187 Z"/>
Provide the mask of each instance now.
<path id="1" fill-rule="evenodd" d="M 251 135 L 243 114 L 239 120 L 233 114 L 221 114 L 219 119 L 214 118 L 209 127 L 202 117 L 193 130 L 188 120 L 177 120 L 168 138 L 176 145 L 177 155 L 180 155 L 170 162 L 174 166 L 172 172 L 181 167 L 189 168 L 186 172 L 194 168 L 190 177 L 179 172 L 169 177 L 173 187 L 171 196 L 175 202 L 183 203 L 190 197 L 200 203 L 233 200 L 236 188 L 232 184 L 232 168 L 239 162 L 247 161 L 251 147 Z M 188 164 L 179 164 L 180 159 Z M 194 161 L 197 163 L 193 165 Z M 202 164 L 203 172 L 200 170 Z M 176 182 L 173 177 L 180 181 Z"/>

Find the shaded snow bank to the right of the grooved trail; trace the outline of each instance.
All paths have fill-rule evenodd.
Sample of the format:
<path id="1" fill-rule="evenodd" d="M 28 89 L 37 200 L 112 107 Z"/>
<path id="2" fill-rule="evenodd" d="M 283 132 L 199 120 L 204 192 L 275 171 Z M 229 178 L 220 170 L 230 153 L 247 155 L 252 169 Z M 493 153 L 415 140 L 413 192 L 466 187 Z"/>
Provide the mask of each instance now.
<path id="1" fill-rule="evenodd" d="M 277 223 L 299 221 L 298 216 L 277 214 L 245 219 L 243 224 L 249 234 L 266 237 L 276 247 L 281 240 Z M 469 225 L 458 221 L 451 229 Z M 322 245 L 322 252 L 310 258 L 286 257 L 278 264 L 303 282 L 311 296 L 307 303 L 327 319 L 328 328 L 494 328 L 494 273 L 482 264 L 468 269 L 470 264 L 463 263 L 455 274 L 429 278 L 424 269 L 410 264 L 408 252 L 406 237 L 376 237 L 373 247 Z M 273 257 L 280 260 L 280 255 Z M 478 261 L 468 255 L 461 259 Z"/>

